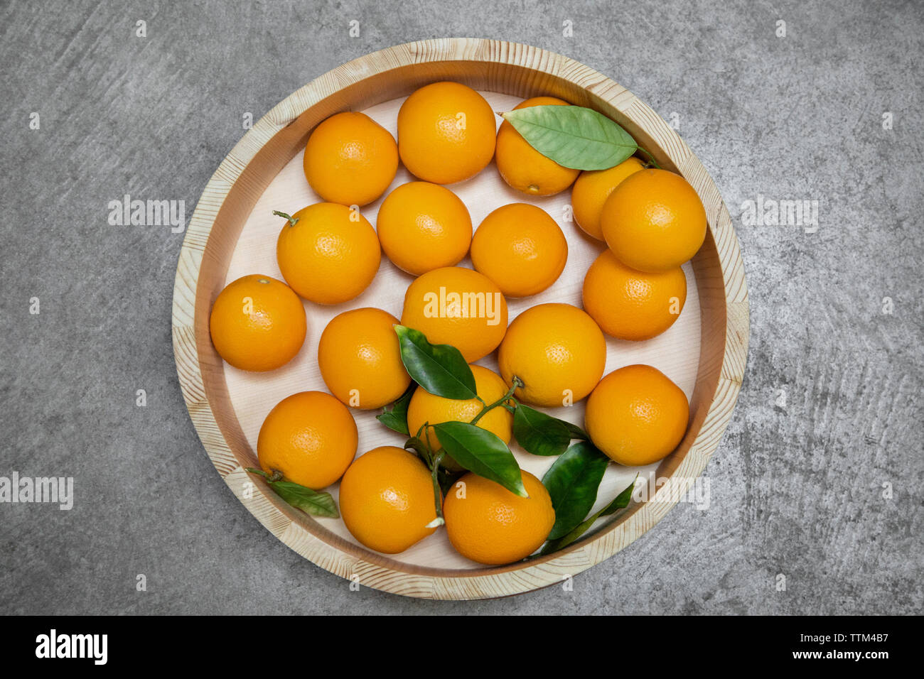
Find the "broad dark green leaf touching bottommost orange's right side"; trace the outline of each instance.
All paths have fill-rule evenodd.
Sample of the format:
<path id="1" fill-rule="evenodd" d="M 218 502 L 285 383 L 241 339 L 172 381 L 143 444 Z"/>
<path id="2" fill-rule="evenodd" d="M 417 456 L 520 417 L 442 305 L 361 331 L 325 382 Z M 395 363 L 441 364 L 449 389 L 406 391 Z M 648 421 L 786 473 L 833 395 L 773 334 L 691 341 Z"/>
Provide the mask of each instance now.
<path id="1" fill-rule="evenodd" d="M 610 458 L 593 443 L 575 443 L 562 454 L 542 477 L 555 510 L 555 525 L 549 540 L 558 540 L 579 524 L 593 503 Z"/>

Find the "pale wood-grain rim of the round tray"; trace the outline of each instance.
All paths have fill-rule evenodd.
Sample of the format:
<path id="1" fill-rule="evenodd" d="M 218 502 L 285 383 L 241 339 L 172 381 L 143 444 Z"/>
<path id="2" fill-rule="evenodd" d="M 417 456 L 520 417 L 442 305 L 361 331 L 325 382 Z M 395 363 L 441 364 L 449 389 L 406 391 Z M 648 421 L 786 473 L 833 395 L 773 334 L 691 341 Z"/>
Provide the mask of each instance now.
<path id="1" fill-rule="evenodd" d="M 669 476 L 681 479 L 682 491 L 686 491 L 699 477 L 722 439 L 741 389 L 749 338 L 744 265 L 730 215 L 711 177 L 675 130 L 647 104 L 614 80 L 569 57 L 517 42 L 480 38 L 407 42 L 360 56 L 334 68 L 311 80 L 263 115 L 225 156 L 202 191 L 189 220 L 177 262 L 172 335 L 177 376 L 190 418 L 206 453 L 229 488 L 264 527 L 292 550 L 360 585 L 405 596 L 441 600 L 509 596 L 548 587 L 575 576 L 613 556 L 653 527 L 678 502 L 678 489 L 674 487 L 672 490 L 667 484 L 647 502 L 630 506 L 621 516 L 617 515 L 618 519 L 565 550 L 525 562 L 472 570 L 395 562 L 334 536 L 312 519 L 306 521 L 304 515 L 279 500 L 265 484 L 249 478 L 227 442 L 206 395 L 202 357 L 196 344 L 195 309 L 200 292 L 201 264 L 218 212 L 247 164 L 263 145 L 335 91 L 395 68 L 459 61 L 539 71 L 586 90 L 604 108 L 637 123 L 643 136 L 657 139 L 654 145 L 661 150 L 659 161 L 664 159 L 673 164 L 703 200 L 709 223 L 708 236 L 714 242 L 724 287 L 725 323 L 723 328 L 715 331 L 724 333 L 724 350 L 721 366 L 712 368 L 716 384 L 714 392 L 706 394 L 709 406 L 705 418 L 699 423 L 693 441 L 683 446 L 683 455 L 669 465 Z M 652 149 L 649 151 L 653 152 Z M 702 370 L 701 354 L 698 382 L 699 370 Z M 692 425 L 691 420 L 691 430 Z M 671 456 L 666 460 L 671 460 Z M 661 469 L 659 467 L 659 473 Z"/>

